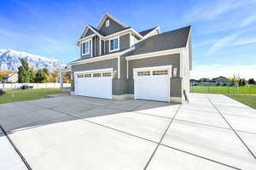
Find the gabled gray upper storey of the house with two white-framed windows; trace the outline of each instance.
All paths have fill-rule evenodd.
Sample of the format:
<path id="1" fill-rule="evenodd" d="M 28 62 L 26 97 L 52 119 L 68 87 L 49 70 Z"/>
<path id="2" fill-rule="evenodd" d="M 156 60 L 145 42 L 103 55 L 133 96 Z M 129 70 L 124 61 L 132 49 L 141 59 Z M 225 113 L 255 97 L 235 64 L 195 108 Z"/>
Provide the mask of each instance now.
<path id="1" fill-rule="evenodd" d="M 110 14 L 104 14 L 97 28 L 90 25 L 85 26 L 78 41 L 81 58 L 120 52 L 132 48 L 137 42 L 158 33 L 160 33 L 159 27 L 137 32 Z"/>

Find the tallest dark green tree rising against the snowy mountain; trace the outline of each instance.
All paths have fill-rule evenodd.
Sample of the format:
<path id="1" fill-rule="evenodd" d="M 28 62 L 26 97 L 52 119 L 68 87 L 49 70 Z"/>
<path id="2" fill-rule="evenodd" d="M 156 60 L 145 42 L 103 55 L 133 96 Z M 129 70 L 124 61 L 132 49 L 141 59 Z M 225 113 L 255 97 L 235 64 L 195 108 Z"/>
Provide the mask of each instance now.
<path id="1" fill-rule="evenodd" d="M 18 82 L 30 82 L 29 66 L 26 59 L 21 59 L 21 65 L 18 68 Z"/>

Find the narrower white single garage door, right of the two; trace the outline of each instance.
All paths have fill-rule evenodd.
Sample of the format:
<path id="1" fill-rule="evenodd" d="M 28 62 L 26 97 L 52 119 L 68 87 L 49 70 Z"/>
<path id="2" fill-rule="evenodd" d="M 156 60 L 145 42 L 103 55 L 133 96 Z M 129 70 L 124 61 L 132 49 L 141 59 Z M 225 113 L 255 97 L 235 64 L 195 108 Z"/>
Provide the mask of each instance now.
<path id="1" fill-rule="evenodd" d="M 170 101 L 172 66 L 134 69 L 134 98 Z"/>

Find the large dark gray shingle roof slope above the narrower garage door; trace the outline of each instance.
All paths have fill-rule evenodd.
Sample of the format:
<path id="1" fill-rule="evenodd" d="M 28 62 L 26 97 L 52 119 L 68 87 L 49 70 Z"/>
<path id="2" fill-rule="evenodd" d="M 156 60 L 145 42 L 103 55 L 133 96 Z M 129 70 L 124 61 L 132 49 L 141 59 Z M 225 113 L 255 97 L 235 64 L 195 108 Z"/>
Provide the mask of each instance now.
<path id="1" fill-rule="evenodd" d="M 148 37 L 135 45 L 135 50 L 128 55 L 146 54 L 166 49 L 186 47 L 191 26 Z"/>

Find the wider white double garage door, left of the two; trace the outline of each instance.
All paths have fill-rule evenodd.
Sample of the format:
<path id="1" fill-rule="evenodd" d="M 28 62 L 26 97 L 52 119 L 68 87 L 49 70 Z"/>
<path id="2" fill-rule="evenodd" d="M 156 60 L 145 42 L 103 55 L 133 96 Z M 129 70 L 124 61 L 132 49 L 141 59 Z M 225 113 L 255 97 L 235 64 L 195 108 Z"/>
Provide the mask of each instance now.
<path id="1" fill-rule="evenodd" d="M 75 72 L 75 94 L 112 99 L 112 70 Z"/>

